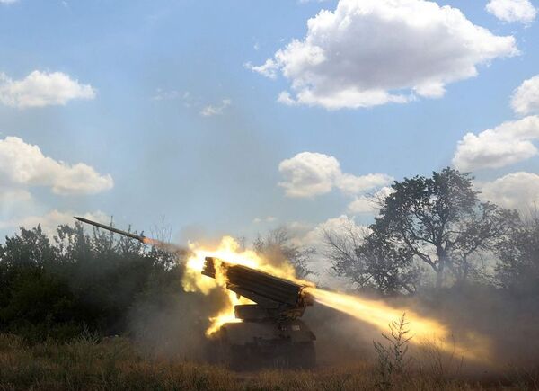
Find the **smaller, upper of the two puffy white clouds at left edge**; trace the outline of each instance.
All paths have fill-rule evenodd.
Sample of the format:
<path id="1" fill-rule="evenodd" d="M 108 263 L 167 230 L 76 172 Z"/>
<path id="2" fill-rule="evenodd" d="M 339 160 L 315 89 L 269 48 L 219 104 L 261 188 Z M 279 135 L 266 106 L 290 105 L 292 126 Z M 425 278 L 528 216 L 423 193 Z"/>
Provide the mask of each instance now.
<path id="1" fill-rule="evenodd" d="M 0 73 L 0 102 L 11 107 L 29 108 L 64 105 L 74 99 L 93 99 L 95 90 L 62 72 L 33 71 L 21 80 Z"/>

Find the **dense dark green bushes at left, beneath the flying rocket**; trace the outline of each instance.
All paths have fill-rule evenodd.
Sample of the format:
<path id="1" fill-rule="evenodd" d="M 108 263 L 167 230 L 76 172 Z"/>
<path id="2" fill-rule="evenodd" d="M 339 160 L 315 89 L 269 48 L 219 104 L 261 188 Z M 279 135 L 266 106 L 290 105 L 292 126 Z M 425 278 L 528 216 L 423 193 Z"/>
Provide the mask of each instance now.
<path id="1" fill-rule="evenodd" d="M 58 227 L 53 243 L 21 228 L 0 245 L 0 331 L 32 342 L 124 333 L 128 314 L 176 289 L 180 272 L 171 254 L 80 224 Z"/>

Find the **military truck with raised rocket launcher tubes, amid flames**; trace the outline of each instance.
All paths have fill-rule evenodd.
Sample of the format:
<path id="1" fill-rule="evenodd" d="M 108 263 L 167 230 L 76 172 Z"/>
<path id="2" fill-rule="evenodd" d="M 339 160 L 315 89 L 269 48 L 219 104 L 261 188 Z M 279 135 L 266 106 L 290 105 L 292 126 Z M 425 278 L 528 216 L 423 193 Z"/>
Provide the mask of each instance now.
<path id="1" fill-rule="evenodd" d="M 216 259 L 206 258 L 202 274 L 215 278 Z M 299 318 L 313 298 L 305 286 L 263 271 L 219 260 L 226 288 L 255 304 L 234 307 L 241 323 L 221 326 L 211 338 L 208 357 L 233 369 L 303 368 L 316 363 L 316 337 Z"/>

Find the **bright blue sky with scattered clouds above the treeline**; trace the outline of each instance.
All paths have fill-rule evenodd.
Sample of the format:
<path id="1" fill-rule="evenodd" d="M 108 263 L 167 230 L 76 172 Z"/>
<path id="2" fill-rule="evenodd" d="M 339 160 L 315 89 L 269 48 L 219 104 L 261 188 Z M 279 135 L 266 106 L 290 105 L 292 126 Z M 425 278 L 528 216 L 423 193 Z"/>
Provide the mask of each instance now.
<path id="1" fill-rule="evenodd" d="M 373 3 L 347 1 L 358 9 Z M 439 47 L 426 45 L 411 53 L 416 61 L 412 69 L 388 67 L 372 81 L 361 73 L 363 65 L 372 59 L 376 69 L 379 58 L 384 64 L 398 63 L 393 56 L 402 54 L 394 48 L 410 44 L 413 49 L 424 36 L 401 33 L 399 23 L 377 31 L 379 19 L 354 16 L 353 27 L 364 31 L 361 23 L 370 22 L 376 34 L 345 31 L 331 37 L 330 31 L 318 43 L 308 38 L 310 18 L 323 9 L 336 13 L 345 3 L 0 1 L 0 233 L 10 235 L 20 225 L 37 222 L 52 227 L 74 213 L 113 215 L 118 226 L 146 231 L 164 217 L 178 241 L 224 234 L 252 237 L 286 224 L 303 227 L 305 233 L 342 215 L 367 224 L 373 213 L 350 209 L 353 200 L 367 200 L 391 182 L 387 178 L 429 174 L 452 164 L 473 171 L 489 200 L 508 207 L 535 201 L 539 161 L 533 143 L 539 129 L 534 113 L 539 103 L 534 99 L 539 98 L 533 92 L 539 81 L 526 84 L 526 91 L 523 87 L 525 109 L 517 112 L 511 106 L 516 89 L 539 74 L 535 18 L 527 13 L 508 21 L 510 10 L 498 9 L 496 16 L 485 9 L 486 0 L 438 1 L 487 29 L 491 45 L 481 53 L 463 49 L 459 45 L 468 39 L 477 45 L 484 40 L 470 38 L 475 32 L 464 28 L 456 31 L 462 39 L 453 40 L 446 24 L 435 23 Z M 376 12 L 389 13 L 387 6 Z M 432 10 L 435 16 L 444 14 L 441 8 Z M 414 18 L 422 26 L 422 18 L 430 16 L 414 13 Z M 421 28 L 414 33 L 421 34 Z M 390 44 L 395 37 L 403 37 L 396 47 Z M 496 37 L 513 37 L 514 42 L 501 48 Z M 302 53 L 296 49 L 288 50 L 273 69 L 274 78 L 257 71 L 295 39 L 312 39 L 326 57 L 331 45 L 340 45 L 345 50 L 338 55 L 358 74 L 347 79 L 337 60 L 326 60 L 327 67 L 301 63 L 294 76 L 287 76 L 294 56 Z M 362 48 L 375 39 L 379 52 L 365 52 Z M 446 47 L 446 56 L 429 57 Z M 454 52 L 471 61 L 476 76 L 462 76 L 453 68 L 438 75 L 440 69 L 455 67 L 446 59 Z M 361 64 L 354 63 L 357 58 Z M 428 67 L 433 61 L 435 71 Z M 38 74 L 29 78 L 32 72 Z M 418 80 L 433 72 L 449 80 L 445 93 L 421 94 Z M 396 84 L 388 80 L 393 76 Z M 307 87 L 292 85 L 304 77 L 318 94 L 312 102 L 301 102 L 297 94 Z M 341 85 L 343 77 L 347 80 Z M 321 103 L 367 84 L 407 102 Z M 283 91 L 296 101 L 278 102 Z M 40 100 L 35 101 L 36 95 Z M 533 135 L 523 138 L 513 131 L 518 127 L 513 122 L 526 118 L 531 118 L 526 134 Z M 504 121 L 513 121 L 503 130 L 505 136 L 468 140 L 464 163 L 455 163 L 457 143 L 466 133 L 479 135 Z M 490 142 L 514 146 L 500 152 Z M 31 146 L 39 147 L 42 156 Z M 464 156 L 478 146 L 486 155 L 494 149 L 499 155 Z M 297 157 L 305 152 L 311 155 Z M 368 185 L 365 176 L 371 173 L 384 176 Z M 342 182 L 346 174 L 352 176 L 351 185 Z M 511 191 L 513 184 L 527 187 Z M 295 195 L 287 192 L 292 188 Z M 516 198 L 522 194 L 525 199 Z"/>

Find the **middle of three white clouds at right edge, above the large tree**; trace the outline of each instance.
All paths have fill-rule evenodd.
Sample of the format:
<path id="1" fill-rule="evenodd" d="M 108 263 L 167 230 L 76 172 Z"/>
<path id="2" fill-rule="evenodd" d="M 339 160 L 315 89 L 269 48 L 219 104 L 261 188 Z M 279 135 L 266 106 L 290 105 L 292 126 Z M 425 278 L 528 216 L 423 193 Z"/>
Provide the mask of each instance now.
<path id="1" fill-rule="evenodd" d="M 514 164 L 537 155 L 535 138 L 539 138 L 539 116 L 507 121 L 477 135 L 467 133 L 458 142 L 453 164 L 464 171 Z"/>

